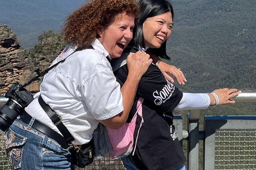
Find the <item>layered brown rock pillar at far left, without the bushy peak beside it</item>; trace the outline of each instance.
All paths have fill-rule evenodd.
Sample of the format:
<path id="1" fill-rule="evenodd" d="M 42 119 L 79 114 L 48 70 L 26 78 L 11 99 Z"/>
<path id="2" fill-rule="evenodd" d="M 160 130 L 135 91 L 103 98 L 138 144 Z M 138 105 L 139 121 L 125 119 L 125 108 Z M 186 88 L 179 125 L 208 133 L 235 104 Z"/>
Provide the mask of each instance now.
<path id="1" fill-rule="evenodd" d="M 15 83 L 25 83 L 36 76 L 34 64 L 29 60 L 25 49 L 20 48 L 17 36 L 7 25 L 0 25 L 0 88 L 4 95 Z M 37 90 L 38 85 L 31 84 L 29 90 Z"/>

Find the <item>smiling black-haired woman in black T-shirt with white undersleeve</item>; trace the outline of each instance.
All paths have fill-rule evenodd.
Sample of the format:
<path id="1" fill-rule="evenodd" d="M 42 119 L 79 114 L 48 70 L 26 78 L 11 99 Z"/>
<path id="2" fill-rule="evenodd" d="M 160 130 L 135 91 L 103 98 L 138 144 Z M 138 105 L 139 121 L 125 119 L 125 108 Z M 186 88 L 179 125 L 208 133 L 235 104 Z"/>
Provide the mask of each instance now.
<path id="1" fill-rule="evenodd" d="M 166 54 L 166 40 L 173 27 L 173 9 L 166 0 L 139 1 L 140 14 L 133 30 L 129 52 L 115 59 L 111 65 L 117 81 L 123 85 L 128 70 L 125 64 L 127 54 L 137 50 L 147 52 L 150 57 L 169 58 Z M 141 78 L 134 104 L 127 122 L 137 111 L 137 101 L 142 104 L 143 124 L 138 132 L 141 118 L 138 116 L 134 132 L 134 154 L 122 158 L 127 169 L 185 170 L 186 158 L 174 131 L 173 109 L 205 109 L 209 106 L 235 103 L 233 99 L 241 91 L 218 89 L 210 94 L 198 95 L 181 92 L 162 74 L 161 60 L 151 64 Z M 162 68 L 165 72 L 165 68 Z M 177 69 L 178 70 L 178 69 Z M 179 70 L 178 70 L 179 72 Z"/>

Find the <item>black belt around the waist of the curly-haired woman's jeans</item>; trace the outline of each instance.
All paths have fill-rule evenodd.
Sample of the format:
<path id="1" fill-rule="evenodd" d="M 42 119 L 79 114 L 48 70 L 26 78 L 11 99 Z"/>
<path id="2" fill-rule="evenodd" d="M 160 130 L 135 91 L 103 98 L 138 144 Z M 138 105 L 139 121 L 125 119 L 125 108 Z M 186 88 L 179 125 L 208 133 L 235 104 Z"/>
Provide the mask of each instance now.
<path id="1" fill-rule="evenodd" d="M 22 122 L 29 124 L 31 119 L 32 117 L 26 111 L 21 112 L 20 120 Z M 32 127 L 57 141 L 62 146 L 62 148 L 67 149 L 69 147 L 65 138 L 63 138 L 62 135 L 60 135 L 58 132 L 52 130 L 49 126 L 35 120 Z"/>

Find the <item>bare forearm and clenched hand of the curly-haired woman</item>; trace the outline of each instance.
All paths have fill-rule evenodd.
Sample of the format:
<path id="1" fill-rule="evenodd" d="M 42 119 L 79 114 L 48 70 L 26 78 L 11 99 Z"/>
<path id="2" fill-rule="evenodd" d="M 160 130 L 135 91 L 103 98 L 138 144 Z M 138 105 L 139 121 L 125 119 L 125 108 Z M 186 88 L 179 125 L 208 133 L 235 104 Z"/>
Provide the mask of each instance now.
<path id="1" fill-rule="evenodd" d="M 152 60 L 149 58 L 149 55 L 143 52 L 137 52 L 127 56 L 127 67 L 129 74 L 127 75 L 127 79 L 124 82 L 123 87 L 121 88 L 124 111 L 114 117 L 108 118 L 107 120 L 100 121 L 103 125 L 111 129 L 119 129 L 126 122 L 140 79 L 147 71 L 151 62 Z"/>

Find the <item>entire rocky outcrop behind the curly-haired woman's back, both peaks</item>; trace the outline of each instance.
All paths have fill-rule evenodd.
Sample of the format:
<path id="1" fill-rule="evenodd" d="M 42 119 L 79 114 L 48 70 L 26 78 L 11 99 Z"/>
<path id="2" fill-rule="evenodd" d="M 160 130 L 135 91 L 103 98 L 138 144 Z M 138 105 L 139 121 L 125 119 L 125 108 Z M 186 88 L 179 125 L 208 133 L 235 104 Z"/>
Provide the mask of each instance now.
<path id="1" fill-rule="evenodd" d="M 62 43 L 61 47 L 58 46 L 57 50 L 54 49 L 54 54 L 50 53 L 50 51 L 45 55 L 42 53 L 46 52 L 43 44 L 47 46 L 49 51 L 51 45 L 47 42 L 60 44 L 56 37 L 58 37 L 57 34 L 54 34 L 50 39 L 41 39 L 41 44 L 37 44 L 37 47 L 40 47 L 41 54 L 35 53 L 35 49 L 31 50 L 30 53 L 30 51 L 26 52 L 25 49 L 20 47 L 17 36 L 7 25 L 0 25 L 0 95 L 4 95 L 13 83 L 24 84 L 50 66 L 65 45 Z M 34 81 L 26 89 L 29 91 L 39 90 L 39 84 L 42 79 Z"/>

